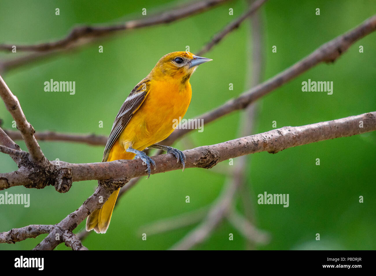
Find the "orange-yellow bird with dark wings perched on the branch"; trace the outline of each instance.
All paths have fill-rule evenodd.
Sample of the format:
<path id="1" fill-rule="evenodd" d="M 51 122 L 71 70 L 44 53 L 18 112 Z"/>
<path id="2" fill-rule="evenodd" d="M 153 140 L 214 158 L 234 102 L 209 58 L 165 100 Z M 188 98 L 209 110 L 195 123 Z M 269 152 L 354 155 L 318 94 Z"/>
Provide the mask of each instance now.
<path id="1" fill-rule="evenodd" d="M 146 165 L 149 178 L 151 167 L 155 169 L 156 165 L 143 150 L 156 148 L 173 154 L 184 170 L 186 158 L 183 152 L 158 143 L 170 136 L 176 122 L 180 122 L 190 105 L 191 75 L 198 65 L 211 60 L 187 51 L 169 53 L 159 59 L 121 106 L 112 125 L 102 162 L 140 158 Z M 86 231 L 94 229 L 97 233 L 106 233 L 119 190 L 113 192 L 100 209 L 89 214 Z"/>

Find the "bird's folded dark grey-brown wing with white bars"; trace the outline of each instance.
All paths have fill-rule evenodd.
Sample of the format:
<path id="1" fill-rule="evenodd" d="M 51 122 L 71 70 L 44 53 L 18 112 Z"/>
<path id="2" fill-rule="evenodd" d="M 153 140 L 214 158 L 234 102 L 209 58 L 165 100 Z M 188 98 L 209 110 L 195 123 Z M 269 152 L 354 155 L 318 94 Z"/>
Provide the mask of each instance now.
<path id="1" fill-rule="evenodd" d="M 145 100 L 147 94 L 149 93 L 149 88 L 150 80 L 144 78 L 135 86 L 135 88 L 132 89 L 128 97 L 125 99 L 118 115 L 115 118 L 114 124 L 112 125 L 111 133 L 108 137 L 105 151 L 103 152 L 102 162 L 107 161 L 112 145 L 114 145 L 116 139 L 118 139 L 120 133 L 124 130 L 130 118 L 132 118 L 133 113 L 139 109 Z"/>

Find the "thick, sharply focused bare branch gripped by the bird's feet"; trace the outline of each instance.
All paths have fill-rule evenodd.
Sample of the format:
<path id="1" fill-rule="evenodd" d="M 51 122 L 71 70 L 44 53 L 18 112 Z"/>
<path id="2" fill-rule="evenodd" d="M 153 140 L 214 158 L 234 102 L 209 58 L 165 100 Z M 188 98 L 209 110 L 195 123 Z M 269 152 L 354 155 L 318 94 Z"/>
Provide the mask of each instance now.
<path id="1" fill-rule="evenodd" d="M 359 122 L 363 127 L 359 127 Z M 333 121 L 320 122 L 301 127 L 282 127 L 261 134 L 242 137 L 227 142 L 184 151 L 186 168 L 202 167 L 209 169 L 217 163 L 246 154 L 267 151 L 276 153 L 294 146 L 305 145 L 323 140 L 347 137 L 376 130 L 376 112 L 364 113 Z M 153 157 L 156 169 L 152 174 L 182 169 L 171 154 Z M 56 164 L 56 161 L 52 161 Z M 147 175 L 142 161 L 116 160 L 112 162 L 71 164 L 59 161 L 62 169 L 70 170 L 73 181 L 83 180 L 122 180 Z M 30 182 L 28 172 L 0 173 L 0 190 Z"/>

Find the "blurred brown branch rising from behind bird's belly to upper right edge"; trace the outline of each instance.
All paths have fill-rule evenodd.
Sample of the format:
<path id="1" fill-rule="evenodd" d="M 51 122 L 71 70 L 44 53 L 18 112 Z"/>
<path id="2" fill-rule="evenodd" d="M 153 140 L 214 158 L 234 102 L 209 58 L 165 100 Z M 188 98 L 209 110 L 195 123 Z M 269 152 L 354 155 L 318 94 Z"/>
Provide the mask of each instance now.
<path id="1" fill-rule="evenodd" d="M 274 89 L 282 86 L 303 72 L 311 69 L 321 62 L 334 62 L 341 54 L 343 54 L 355 41 L 374 32 L 376 29 L 376 15 L 365 20 L 355 29 L 338 36 L 337 38 L 321 45 L 317 50 L 309 56 L 275 75 L 273 78 L 259 84 L 256 87 L 244 92 L 240 97 L 231 99 L 220 107 L 206 112 L 197 119 L 203 119 L 205 124 L 214 121 L 235 110 L 244 109 L 262 96 L 268 94 Z M 167 139 L 161 142 L 163 145 L 171 145 L 176 139 L 190 132 L 191 129 L 177 129 Z"/>

